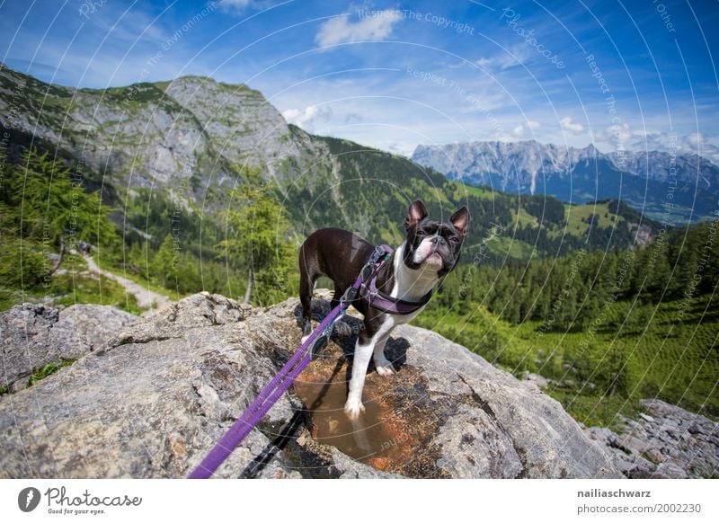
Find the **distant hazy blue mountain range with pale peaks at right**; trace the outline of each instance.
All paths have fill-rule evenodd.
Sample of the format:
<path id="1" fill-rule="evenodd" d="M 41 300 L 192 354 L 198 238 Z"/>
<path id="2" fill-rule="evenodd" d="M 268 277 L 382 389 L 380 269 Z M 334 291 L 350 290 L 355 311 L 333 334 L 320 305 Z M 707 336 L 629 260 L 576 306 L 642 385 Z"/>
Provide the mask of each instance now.
<path id="1" fill-rule="evenodd" d="M 672 225 L 708 217 L 719 195 L 719 166 L 697 155 L 603 154 L 592 145 L 530 140 L 417 146 L 412 159 L 450 180 L 497 191 L 547 194 L 573 203 L 622 199 Z"/>

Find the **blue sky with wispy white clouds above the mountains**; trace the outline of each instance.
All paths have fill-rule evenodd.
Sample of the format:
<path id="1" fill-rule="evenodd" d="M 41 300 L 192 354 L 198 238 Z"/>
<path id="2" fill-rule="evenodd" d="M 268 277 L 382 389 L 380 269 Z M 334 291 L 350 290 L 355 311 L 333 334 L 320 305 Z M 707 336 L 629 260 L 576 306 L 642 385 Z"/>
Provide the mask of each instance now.
<path id="1" fill-rule="evenodd" d="M 81 87 L 208 75 L 288 121 L 410 155 L 537 139 L 719 163 L 719 3 L 0 4 L 0 60 Z"/>

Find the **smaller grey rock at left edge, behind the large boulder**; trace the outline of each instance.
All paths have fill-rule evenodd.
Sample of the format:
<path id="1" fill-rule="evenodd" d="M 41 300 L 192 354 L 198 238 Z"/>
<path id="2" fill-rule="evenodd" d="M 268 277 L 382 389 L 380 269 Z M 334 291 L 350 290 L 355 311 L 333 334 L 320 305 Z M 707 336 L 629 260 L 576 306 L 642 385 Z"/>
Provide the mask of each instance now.
<path id="1" fill-rule="evenodd" d="M 80 358 L 137 320 L 113 306 L 74 305 L 62 311 L 30 303 L 13 306 L 0 315 L 3 385 L 11 392 L 22 389 L 33 369 Z"/>

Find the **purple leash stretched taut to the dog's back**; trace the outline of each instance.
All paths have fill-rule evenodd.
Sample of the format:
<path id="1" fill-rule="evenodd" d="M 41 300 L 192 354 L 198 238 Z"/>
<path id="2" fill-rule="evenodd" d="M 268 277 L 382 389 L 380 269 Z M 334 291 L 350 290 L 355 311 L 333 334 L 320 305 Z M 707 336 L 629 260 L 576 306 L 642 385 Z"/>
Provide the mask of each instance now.
<path id="1" fill-rule="evenodd" d="M 294 383 L 300 373 L 312 361 L 312 350 L 308 350 L 315 344 L 318 336 L 322 334 L 329 340 L 330 334 L 334 326 L 334 322 L 344 315 L 345 309 L 350 306 L 353 299 L 358 296 L 359 287 L 362 282 L 370 279 L 377 273 L 381 263 L 380 259 L 392 253 L 392 249 L 386 245 L 380 245 L 375 249 L 375 253 L 369 259 L 365 267 L 359 272 L 359 277 L 351 288 L 347 289 L 344 296 L 340 300 L 340 304 L 333 308 L 330 314 L 326 315 L 321 324 L 309 335 L 309 338 L 299 347 L 288 362 L 280 368 L 277 376 L 273 377 L 257 395 L 257 398 L 251 403 L 235 420 L 232 427 L 226 431 L 225 435 L 217 441 L 209 454 L 202 460 L 195 470 L 188 476 L 190 479 L 207 479 L 215 474 L 219 465 L 222 465 L 226 458 L 232 454 L 233 450 L 243 442 L 251 430 L 262 420 L 264 415 L 271 409 L 272 405 L 277 403 L 280 396 L 284 394 Z"/>

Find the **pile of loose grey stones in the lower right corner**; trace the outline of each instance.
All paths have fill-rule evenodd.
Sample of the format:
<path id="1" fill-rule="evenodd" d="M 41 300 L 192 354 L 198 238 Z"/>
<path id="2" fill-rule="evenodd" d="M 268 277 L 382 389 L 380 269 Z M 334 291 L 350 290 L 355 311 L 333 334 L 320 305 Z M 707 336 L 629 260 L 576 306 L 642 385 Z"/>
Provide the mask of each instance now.
<path id="1" fill-rule="evenodd" d="M 657 399 L 640 404 L 644 412 L 637 420 L 622 419 L 618 433 L 587 429 L 623 474 L 638 478 L 716 477 L 719 423 Z"/>

